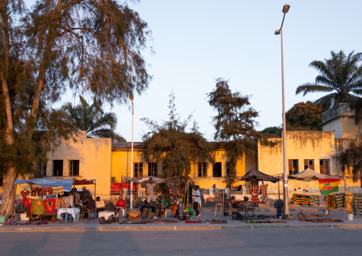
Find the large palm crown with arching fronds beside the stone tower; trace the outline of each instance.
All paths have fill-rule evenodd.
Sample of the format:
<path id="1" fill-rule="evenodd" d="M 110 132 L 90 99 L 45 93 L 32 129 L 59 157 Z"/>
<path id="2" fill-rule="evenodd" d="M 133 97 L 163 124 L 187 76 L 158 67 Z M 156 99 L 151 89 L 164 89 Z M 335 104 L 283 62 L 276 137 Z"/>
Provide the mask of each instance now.
<path id="1" fill-rule="evenodd" d="M 296 88 L 296 94 L 329 93 L 314 103 L 322 106 L 323 110 L 336 106 L 338 103 L 353 103 L 362 90 L 362 53 L 348 54 L 331 51 L 331 58 L 324 61 L 312 61 L 309 66 L 319 71 L 315 83 L 304 83 Z"/>

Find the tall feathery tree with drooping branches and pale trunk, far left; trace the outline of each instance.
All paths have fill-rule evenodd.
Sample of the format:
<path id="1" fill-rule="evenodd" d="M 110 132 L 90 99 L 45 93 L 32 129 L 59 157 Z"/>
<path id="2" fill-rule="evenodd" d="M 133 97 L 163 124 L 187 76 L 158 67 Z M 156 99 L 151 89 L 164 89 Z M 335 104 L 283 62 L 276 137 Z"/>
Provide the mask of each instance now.
<path id="1" fill-rule="evenodd" d="M 21 0 L 0 0 L 0 18 L 0 215 L 9 216 L 15 178 L 33 169 L 50 138 L 74 129 L 53 103 L 68 88 L 108 103 L 145 91 L 140 51 L 150 31 L 128 1 L 38 0 L 29 11 Z"/>

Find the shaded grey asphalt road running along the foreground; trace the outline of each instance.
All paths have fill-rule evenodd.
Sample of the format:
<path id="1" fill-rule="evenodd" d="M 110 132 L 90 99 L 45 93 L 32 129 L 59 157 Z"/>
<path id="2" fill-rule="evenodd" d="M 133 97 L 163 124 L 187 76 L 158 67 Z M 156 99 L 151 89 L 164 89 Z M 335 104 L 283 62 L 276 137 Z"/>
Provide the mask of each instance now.
<path id="1" fill-rule="evenodd" d="M 1 232 L 0 255 L 361 255 L 362 230 Z"/>

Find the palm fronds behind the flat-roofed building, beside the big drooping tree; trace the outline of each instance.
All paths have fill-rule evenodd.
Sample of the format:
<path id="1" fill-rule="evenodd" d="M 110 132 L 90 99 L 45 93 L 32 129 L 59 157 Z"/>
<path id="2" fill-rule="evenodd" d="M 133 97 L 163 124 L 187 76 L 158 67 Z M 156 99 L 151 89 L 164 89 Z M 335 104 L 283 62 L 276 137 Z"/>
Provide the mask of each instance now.
<path id="1" fill-rule="evenodd" d="M 112 138 L 115 141 L 125 141 L 125 138 L 114 132 L 117 125 L 114 113 L 104 113 L 101 103 L 93 101 L 93 104 L 89 105 L 82 96 L 79 98 L 81 103 L 78 106 L 73 106 L 68 102 L 61 107 L 61 111 L 66 113 L 80 130 L 86 130 L 88 138 Z"/>

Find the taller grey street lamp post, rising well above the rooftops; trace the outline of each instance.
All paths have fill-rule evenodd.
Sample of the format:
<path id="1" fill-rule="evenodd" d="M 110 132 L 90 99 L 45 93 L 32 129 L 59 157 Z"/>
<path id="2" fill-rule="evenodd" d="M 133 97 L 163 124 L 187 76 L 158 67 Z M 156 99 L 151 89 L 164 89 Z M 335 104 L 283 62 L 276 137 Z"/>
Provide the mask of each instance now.
<path id="1" fill-rule="evenodd" d="M 284 13 L 283 21 L 281 21 L 280 29 L 277 29 L 274 34 L 279 35 L 281 39 L 281 94 L 283 104 L 283 200 L 284 200 L 284 215 L 289 215 L 288 205 L 288 173 L 286 166 L 288 166 L 286 158 L 286 126 L 285 126 L 285 96 L 284 96 L 284 61 L 283 61 L 283 24 L 285 14 L 289 11 L 290 4 L 284 4 L 281 10 Z"/>

